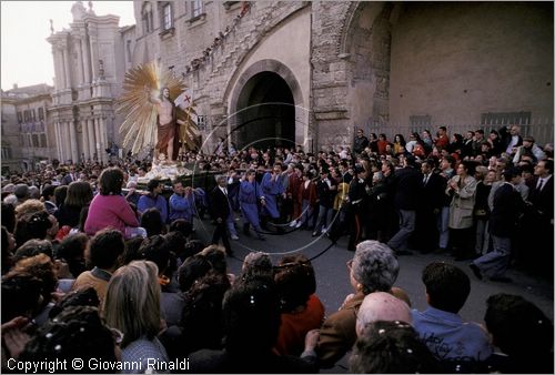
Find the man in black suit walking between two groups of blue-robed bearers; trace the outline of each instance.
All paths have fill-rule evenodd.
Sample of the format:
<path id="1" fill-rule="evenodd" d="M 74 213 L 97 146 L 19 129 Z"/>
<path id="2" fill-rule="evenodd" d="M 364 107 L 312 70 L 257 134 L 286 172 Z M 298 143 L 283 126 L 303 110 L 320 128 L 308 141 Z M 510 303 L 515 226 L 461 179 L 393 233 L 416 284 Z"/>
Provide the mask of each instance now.
<path id="1" fill-rule="evenodd" d="M 225 253 L 232 255 L 230 239 L 228 235 L 228 216 L 231 214 L 230 201 L 228 200 L 228 178 L 219 175 L 216 178 L 218 186 L 210 194 L 210 212 L 215 222 L 212 244 L 218 244 L 222 239 Z"/>

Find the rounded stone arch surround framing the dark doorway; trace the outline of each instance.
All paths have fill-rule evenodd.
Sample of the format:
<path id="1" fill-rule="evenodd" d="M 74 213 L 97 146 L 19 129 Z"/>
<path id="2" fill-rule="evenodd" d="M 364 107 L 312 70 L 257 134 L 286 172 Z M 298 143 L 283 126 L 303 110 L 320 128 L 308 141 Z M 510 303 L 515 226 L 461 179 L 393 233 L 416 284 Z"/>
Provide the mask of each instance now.
<path id="1" fill-rule="evenodd" d="M 272 74 L 275 74 L 280 80 L 283 81 L 284 84 L 291 91 L 292 100 L 290 105 L 293 110 L 292 120 L 294 121 L 294 135 L 292 136 L 294 143 L 303 143 L 305 126 L 307 125 L 303 119 L 305 118 L 306 109 L 301 85 L 299 84 L 299 80 L 295 78 L 293 71 L 289 69 L 285 64 L 278 60 L 273 59 L 264 59 L 256 61 L 252 65 L 250 65 L 234 82 L 233 88 L 229 89 L 230 100 L 229 100 L 229 114 L 228 114 L 228 133 L 234 142 L 241 143 L 241 132 L 238 131 L 242 128 L 242 122 L 245 115 L 245 107 L 249 105 L 248 99 L 253 90 L 253 85 L 256 84 L 260 79 L 271 79 Z M 279 80 L 278 80 L 279 81 Z M 260 103 L 262 104 L 262 103 Z M 272 104 L 274 105 L 274 104 Z M 279 134 L 278 134 L 279 135 Z M 281 145 L 291 145 L 283 144 Z"/>

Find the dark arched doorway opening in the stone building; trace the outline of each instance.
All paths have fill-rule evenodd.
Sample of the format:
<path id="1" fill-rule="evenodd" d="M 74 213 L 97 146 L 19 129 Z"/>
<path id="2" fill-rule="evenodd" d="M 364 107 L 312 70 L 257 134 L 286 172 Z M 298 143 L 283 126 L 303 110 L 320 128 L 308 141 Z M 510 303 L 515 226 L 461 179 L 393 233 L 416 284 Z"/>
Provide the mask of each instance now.
<path id="1" fill-rule="evenodd" d="M 231 129 L 239 148 L 295 144 L 295 102 L 287 82 L 278 73 L 263 71 L 251 77 L 238 98 Z"/>

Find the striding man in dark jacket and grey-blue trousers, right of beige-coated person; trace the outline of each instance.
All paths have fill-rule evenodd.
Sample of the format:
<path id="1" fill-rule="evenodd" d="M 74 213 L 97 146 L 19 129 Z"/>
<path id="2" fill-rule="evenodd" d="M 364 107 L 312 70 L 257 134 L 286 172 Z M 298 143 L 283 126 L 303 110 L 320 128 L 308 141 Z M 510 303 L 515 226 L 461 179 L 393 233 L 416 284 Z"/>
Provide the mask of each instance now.
<path id="1" fill-rule="evenodd" d="M 511 264 L 511 237 L 515 232 L 518 216 L 524 211 L 524 201 L 515 189 L 522 171 L 511 168 L 503 172 L 503 184 L 494 192 L 493 210 L 490 215 L 490 234 L 493 251 L 474 260 L 470 267 L 482 278 L 485 274 L 492 281 L 509 282 L 505 272 Z"/>

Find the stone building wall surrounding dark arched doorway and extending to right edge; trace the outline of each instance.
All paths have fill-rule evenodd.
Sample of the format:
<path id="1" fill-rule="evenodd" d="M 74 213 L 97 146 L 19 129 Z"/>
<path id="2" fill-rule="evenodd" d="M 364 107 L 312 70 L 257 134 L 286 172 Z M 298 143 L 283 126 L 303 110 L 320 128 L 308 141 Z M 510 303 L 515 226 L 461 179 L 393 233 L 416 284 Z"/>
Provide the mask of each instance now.
<path id="1" fill-rule="evenodd" d="M 311 111 L 297 138 L 314 148 L 349 145 L 355 126 L 407 125 L 411 115 L 431 115 L 432 126 L 496 111 L 553 116 L 553 3 L 254 1 L 239 17 L 242 2 L 205 1 L 193 18 L 184 1 L 162 32 L 150 1 L 150 33 L 145 3 L 135 1 L 133 61 L 183 74 L 208 120 L 204 139 L 226 134 L 241 78 L 266 60 L 299 81 Z"/>

